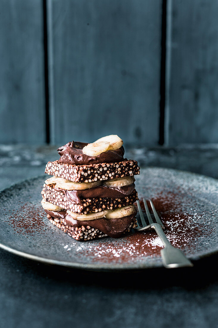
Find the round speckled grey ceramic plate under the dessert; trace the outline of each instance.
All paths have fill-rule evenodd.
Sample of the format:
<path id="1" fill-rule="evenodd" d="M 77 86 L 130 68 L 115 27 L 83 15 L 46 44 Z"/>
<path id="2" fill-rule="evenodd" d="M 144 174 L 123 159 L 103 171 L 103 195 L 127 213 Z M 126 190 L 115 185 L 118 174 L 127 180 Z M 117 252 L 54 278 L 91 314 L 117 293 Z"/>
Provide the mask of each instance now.
<path id="1" fill-rule="evenodd" d="M 0 193 L 0 246 L 27 258 L 87 270 L 161 267 L 154 232 L 79 242 L 46 218 L 41 190 L 46 176 Z M 152 198 L 171 243 L 192 260 L 218 251 L 218 180 L 176 170 L 147 168 L 136 177 L 139 199 Z"/>

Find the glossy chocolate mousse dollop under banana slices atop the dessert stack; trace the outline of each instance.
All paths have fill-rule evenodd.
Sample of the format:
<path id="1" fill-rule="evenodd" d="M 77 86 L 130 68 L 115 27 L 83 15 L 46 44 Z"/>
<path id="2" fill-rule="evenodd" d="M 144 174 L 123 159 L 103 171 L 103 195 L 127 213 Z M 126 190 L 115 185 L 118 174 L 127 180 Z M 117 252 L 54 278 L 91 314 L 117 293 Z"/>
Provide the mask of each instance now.
<path id="1" fill-rule="evenodd" d="M 88 156 L 82 153 L 83 147 L 88 143 L 84 142 L 68 142 L 66 145 L 58 148 L 58 154 L 61 156 L 60 163 L 72 165 L 90 165 L 99 163 L 118 163 L 126 158 L 123 158 L 123 146 L 116 150 L 108 150 L 98 156 Z"/>

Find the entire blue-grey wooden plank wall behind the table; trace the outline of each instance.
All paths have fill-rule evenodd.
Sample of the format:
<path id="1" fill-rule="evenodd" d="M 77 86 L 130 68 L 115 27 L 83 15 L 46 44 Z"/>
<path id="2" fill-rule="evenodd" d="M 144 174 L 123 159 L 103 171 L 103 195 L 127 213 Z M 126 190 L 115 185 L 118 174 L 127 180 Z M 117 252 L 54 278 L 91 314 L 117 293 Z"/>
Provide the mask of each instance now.
<path id="1" fill-rule="evenodd" d="M 2 0 L 0 143 L 42 144 L 49 132 L 53 144 L 117 133 L 157 145 L 165 4 Z M 218 142 L 217 17 L 217 0 L 167 0 L 166 146 Z"/>

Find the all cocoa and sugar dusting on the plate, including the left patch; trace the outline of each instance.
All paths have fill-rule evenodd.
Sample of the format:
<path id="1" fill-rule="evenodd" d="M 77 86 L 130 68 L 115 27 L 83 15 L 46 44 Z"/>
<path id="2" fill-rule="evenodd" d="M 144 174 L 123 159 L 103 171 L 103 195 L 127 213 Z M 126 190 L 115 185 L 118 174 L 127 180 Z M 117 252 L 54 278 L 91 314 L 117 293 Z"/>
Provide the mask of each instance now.
<path id="1" fill-rule="evenodd" d="M 207 238 L 209 233 L 213 232 L 212 224 L 210 229 L 205 229 L 205 225 L 213 219 L 213 212 L 204 212 L 204 205 L 192 197 L 191 193 L 187 194 L 179 189 L 174 193 L 161 192 L 152 198 L 152 201 L 164 223 L 167 238 L 186 255 L 197 250 L 201 239 Z M 145 213 L 142 200 L 140 204 Z M 149 204 L 148 206 L 152 213 Z M 14 234 L 23 234 L 31 240 L 34 240 L 36 233 L 46 234 L 48 229 L 54 228 L 47 220 L 41 204 L 26 203 L 20 206 L 19 211 L 11 210 L 10 214 L 9 225 L 13 227 Z M 54 234 L 55 238 L 55 230 L 50 233 Z M 94 262 L 100 259 L 105 263 L 130 263 L 140 257 L 160 256 L 163 247 L 153 230 L 128 233 L 118 239 L 106 237 L 89 242 L 79 242 L 69 237 L 69 242 L 61 245 L 69 256 L 71 250 L 76 250 L 78 256 L 82 255 Z"/>

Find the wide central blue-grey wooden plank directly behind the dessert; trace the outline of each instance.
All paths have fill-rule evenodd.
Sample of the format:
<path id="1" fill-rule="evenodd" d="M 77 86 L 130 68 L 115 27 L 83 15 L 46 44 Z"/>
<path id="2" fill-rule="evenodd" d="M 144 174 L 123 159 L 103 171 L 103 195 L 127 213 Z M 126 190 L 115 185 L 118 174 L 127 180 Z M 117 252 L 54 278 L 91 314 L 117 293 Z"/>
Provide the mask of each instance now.
<path id="1" fill-rule="evenodd" d="M 48 0 L 51 141 L 159 137 L 160 0 Z"/>

